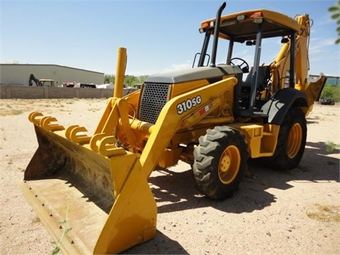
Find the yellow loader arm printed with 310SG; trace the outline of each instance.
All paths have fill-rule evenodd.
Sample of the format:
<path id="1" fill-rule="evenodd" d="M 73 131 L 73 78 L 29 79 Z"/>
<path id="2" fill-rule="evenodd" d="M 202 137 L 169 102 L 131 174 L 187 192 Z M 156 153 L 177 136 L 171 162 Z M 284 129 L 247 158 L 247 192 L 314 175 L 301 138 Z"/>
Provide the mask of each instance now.
<path id="1" fill-rule="evenodd" d="M 234 77 L 223 79 L 214 84 L 176 96 L 166 103 L 140 156 L 145 176 L 152 173 L 174 133 L 183 127 L 190 128 L 220 106 L 220 94 L 232 89 L 235 84 L 237 84 L 237 79 Z M 179 107 L 182 106 L 183 102 L 192 101 L 193 98 L 200 98 L 198 99 L 200 103 L 196 104 L 191 110 L 179 114 Z"/>

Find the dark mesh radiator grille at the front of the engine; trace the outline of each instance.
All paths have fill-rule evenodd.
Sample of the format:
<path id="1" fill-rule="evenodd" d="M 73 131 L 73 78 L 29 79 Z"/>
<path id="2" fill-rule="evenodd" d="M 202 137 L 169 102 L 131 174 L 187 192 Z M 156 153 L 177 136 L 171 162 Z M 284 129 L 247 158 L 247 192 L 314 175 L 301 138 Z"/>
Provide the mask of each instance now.
<path id="1" fill-rule="evenodd" d="M 169 100 L 170 84 L 145 84 L 140 101 L 139 120 L 156 123 L 159 113 Z"/>

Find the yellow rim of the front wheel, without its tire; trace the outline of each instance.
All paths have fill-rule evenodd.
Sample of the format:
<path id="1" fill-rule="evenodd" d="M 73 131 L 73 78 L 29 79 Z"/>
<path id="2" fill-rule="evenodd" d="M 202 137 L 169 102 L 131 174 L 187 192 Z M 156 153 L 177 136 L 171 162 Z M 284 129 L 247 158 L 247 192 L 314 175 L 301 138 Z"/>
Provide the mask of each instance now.
<path id="1" fill-rule="evenodd" d="M 239 165 L 241 164 L 241 157 L 239 149 L 236 146 L 228 146 L 222 156 L 220 157 L 220 164 L 218 167 L 218 176 L 220 181 L 224 184 L 229 184 L 234 181 L 239 172 Z"/>

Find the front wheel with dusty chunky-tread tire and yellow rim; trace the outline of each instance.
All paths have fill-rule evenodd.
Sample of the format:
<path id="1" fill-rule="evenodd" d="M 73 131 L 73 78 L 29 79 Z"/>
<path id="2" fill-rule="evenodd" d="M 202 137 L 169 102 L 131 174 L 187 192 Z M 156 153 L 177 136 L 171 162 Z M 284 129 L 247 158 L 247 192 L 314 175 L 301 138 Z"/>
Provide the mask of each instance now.
<path id="1" fill-rule="evenodd" d="M 228 127 L 209 129 L 200 137 L 193 155 L 193 176 L 203 195 L 222 200 L 237 191 L 249 157 L 241 132 Z"/>

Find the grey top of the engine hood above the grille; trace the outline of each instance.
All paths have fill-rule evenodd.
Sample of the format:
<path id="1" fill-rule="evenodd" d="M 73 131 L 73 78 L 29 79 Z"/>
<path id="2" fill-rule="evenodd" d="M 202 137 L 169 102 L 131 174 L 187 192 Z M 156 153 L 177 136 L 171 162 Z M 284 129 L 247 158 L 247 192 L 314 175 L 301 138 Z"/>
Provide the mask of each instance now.
<path id="1" fill-rule="evenodd" d="M 185 81 L 195 81 L 200 79 L 212 79 L 230 74 L 242 74 L 242 70 L 238 66 L 226 64 L 217 65 L 217 67 L 196 67 L 162 74 L 154 74 L 145 79 L 145 83 L 162 83 L 175 84 Z"/>

